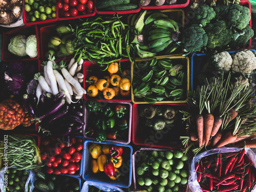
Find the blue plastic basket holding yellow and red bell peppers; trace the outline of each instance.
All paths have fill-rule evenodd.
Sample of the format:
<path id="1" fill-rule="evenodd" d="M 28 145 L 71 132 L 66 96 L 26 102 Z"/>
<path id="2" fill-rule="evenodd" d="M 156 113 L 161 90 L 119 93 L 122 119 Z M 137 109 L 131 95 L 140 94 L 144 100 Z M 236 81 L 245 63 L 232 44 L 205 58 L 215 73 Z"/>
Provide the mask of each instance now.
<path id="1" fill-rule="evenodd" d="M 99 143 L 99 144 L 108 144 L 108 145 L 117 145 L 123 147 L 123 152 L 127 152 L 129 155 L 122 155 L 123 163 L 119 169 L 121 175 L 117 180 L 111 180 L 105 173 L 100 172 L 94 174 L 91 170 L 91 162 L 92 156 L 89 152 L 89 146 L 92 143 Z M 133 155 L 133 147 L 131 145 L 124 145 L 124 144 L 116 144 L 110 142 L 98 142 L 98 141 L 90 141 L 87 140 L 83 143 L 83 173 L 82 178 L 86 181 L 95 181 L 98 183 L 107 183 L 117 187 L 128 188 L 132 184 L 132 155 Z"/>

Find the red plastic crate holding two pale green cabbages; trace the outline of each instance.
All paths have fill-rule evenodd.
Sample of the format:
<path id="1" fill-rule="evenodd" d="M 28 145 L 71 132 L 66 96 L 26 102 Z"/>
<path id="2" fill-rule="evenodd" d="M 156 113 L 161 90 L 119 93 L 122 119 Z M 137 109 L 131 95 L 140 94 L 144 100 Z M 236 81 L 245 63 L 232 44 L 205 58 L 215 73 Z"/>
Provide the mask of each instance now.
<path id="1" fill-rule="evenodd" d="M 8 50 L 8 45 L 10 43 L 10 39 L 15 36 L 15 35 L 25 35 L 26 37 L 30 35 L 36 35 L 36 40 L 37 40 L 37 57 L 30 58 L 28 55 L 24 57 L 18 57 L 14 54 L 12 54 Z M 3 44 L 2 44 L 2 60 L 3 61 L 28 61 L 32 59 L 39 59 L 39 51 L 40 49 L 40 39 L 39 39 L 39 34 L 38 34 L 38 28 L 36 25 L 34 26 L 23 26 L 19 28 L 15 28 L 11 31 L 7 31 L 3 33 Z"/>

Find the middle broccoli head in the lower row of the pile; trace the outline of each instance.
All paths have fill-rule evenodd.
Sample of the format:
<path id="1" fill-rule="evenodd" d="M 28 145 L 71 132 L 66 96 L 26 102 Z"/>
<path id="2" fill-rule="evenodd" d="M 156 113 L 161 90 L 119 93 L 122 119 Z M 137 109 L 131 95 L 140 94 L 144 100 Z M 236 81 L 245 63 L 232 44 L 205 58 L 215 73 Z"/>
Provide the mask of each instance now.
<path id="1" fill-rule="evenodd" d="M 233 34 L 224 20 L 219 20 L 215 24 L 208 24 L 205 31 L 208 36 L 207 47 L 210 49 L 226 46 L 231 41 Z"/>

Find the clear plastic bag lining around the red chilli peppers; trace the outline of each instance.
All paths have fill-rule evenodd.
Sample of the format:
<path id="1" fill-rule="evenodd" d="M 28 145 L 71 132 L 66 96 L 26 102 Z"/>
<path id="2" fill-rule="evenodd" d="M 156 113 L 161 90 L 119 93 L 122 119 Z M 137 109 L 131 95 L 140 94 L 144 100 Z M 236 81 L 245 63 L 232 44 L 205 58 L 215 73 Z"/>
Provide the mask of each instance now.
<path id="1" fill-rule="evenodd" d="M 230 153 L 231 152 L 232 153 L 232 152 L 239 152 L 241 150 L 243 150 L 243 148 L 233 148 L 233 147 L 213 148 L 212 150 L 203 152 L 203 153 L 195 156 L 191 162 L 190 171 L 189 171 L 188 185 L 189 185 L 190 191 L 202 192 L 202 189 L 197 181 L 197 173 L 195 172 L 195 164 L 202 157 L 209 156 L 212 154 L 218 154 L 219 152 L 221 152 L 221 153 Z M 250 148 L 245 148 L 245 154 L 252 161 L 253 166 L 256 167 L 256 154 L 254 154 Z M 256 185 L 253 187 L 251 192 L 256 192 Z"/>

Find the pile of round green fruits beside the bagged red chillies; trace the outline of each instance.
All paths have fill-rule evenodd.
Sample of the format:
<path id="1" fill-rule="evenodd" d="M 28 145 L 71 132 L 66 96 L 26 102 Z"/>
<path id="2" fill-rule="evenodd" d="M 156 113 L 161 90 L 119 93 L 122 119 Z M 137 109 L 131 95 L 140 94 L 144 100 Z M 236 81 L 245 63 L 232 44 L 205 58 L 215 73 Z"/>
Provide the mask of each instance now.
<path id="1" fill-rule="evenodd" d="M 188 178 L 188 156 L 181 151 L 140 151 L 135 165 L 137 189 L 182 191 Z"/>

